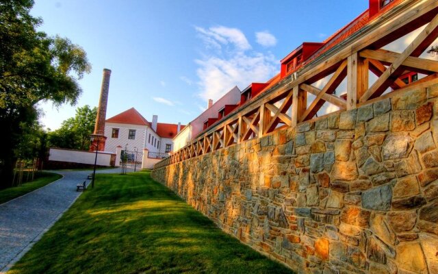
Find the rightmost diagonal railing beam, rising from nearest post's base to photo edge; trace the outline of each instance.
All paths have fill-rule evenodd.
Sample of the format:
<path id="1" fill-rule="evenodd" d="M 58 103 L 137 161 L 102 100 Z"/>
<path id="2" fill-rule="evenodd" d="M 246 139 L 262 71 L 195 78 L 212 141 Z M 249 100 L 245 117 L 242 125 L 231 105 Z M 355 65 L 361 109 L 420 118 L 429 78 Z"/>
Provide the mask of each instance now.
<path id="1" fill-rule="evenodd" d="M 433 36 L 433 37 L 430 37 Z M 423 49 L 425 46 L 425 41 L 429 41 L 431 38 L 435 40 L 438 36 L 438 14 L 430 21 L 430 23 L 425 27 L 420 34 L 411 42 L 411 44 L 404 49 L 404 51 L 398 55 L 396 60 L 388 67 L 388 69 L 381 75 L 381 77 L 378 77 L 376 82 L 372 84 L 372 86 L 363 94 L 360 101 L 365 102 L 368 99 L 372 97 L 378 97 L 380 96 L 389 86 L 389 82 L 391 81 L 391 78 L 396 79 L 402 71 L 400 70 L 400 66 L 402 66 L 403 62 L 414 53 L 418 53 L 419 49 Z M 422 51 L 421 51 L 422 52 Z M 390 78 L 391 77 L 391 78 Z"/>

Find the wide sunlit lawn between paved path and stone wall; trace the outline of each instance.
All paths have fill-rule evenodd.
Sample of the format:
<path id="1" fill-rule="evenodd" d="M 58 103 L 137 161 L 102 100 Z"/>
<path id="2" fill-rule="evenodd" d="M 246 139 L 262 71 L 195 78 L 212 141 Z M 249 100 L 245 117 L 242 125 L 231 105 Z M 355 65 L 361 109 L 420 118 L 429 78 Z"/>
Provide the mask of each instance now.
<path id="1" fill-rule="evenodd" d="M 290 273 L 154 182 L 96 175 L 12 273 Z"/>

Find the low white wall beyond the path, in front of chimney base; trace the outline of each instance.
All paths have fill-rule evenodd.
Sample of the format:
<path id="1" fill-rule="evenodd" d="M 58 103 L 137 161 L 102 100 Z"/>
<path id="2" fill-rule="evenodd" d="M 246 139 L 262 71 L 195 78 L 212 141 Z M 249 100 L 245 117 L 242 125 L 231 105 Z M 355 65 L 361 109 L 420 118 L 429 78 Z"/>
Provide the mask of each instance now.
<path id="1" fill-rule="evenodd" d="M 110 166 L 112 155 L 113 154 L 110 152 L 98 151 L 96 164 L 99 166 Z M 49 161 L 75 162 L 79 164 L 94 164 L 95 157 L 96 157 L 96 153 L 90 151 L 78 151 L 71 149 L 55 149 L 55 148 L 51 148 L 49 151 Z"/>

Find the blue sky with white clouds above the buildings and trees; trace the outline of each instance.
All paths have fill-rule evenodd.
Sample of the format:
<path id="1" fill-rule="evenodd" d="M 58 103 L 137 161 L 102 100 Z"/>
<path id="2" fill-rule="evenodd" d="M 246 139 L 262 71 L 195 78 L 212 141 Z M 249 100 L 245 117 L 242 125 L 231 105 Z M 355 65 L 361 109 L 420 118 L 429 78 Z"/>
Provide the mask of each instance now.
<path id="1" fill-rule="evenodd" d="M 41 122 L 56 129 L 75 108 L 97 105 L 107 68 L 107 118 L 134 107 L 149 121 L 188 123 L 207 99 L 266 82 L 302 42 L 324 40 L 367 8 L 368 0 L 36 0 L 40 30 L 70 38 L 92 64 L 77 105 L 41 103 Z"/>

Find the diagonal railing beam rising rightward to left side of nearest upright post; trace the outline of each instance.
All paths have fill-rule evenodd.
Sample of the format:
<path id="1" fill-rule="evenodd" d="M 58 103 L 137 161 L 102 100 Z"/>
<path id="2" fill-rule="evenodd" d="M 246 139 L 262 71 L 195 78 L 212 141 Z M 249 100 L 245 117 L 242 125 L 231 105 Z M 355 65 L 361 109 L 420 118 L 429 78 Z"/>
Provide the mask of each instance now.
<path id="1" fill-rule="evenodd" d="M 337 86 L 339 86 L 342 80 L 346 77 L 346 74 L 347 61 L 344 60 L 344 62 L 339 65 L 333 76 L 329 79 L 329 82 L 324 86 L 324 88 L 322 88 L 320 94 L 313 100 L 313 102 L 311 103 L 309 108 L 307 108 L 304 114 L 302 114 L 302 116 L 300 117 L 300 122 L 311 119 L 313 116 L 315 116 L 316 112 L 318 112 L 318 110 L 320 110 L 320 108 L 324 104 L 324 101 L 321 101 L 322 95 L 324 95 L 325 93 L 333 93 Z"/>

